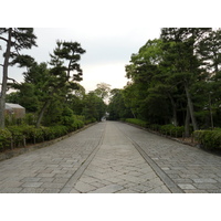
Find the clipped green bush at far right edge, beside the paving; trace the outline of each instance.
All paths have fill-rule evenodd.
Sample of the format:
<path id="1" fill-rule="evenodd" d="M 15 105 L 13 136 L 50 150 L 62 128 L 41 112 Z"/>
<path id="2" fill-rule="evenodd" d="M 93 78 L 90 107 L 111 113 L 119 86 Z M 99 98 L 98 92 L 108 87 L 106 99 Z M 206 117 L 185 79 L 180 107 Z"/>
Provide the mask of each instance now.
<path id="1" fill-rule="evenodd" d="M 196 130 L 193 133 L 194 139 L 198 140 L 204 149 L 221 148 L 221 130 Z"/>

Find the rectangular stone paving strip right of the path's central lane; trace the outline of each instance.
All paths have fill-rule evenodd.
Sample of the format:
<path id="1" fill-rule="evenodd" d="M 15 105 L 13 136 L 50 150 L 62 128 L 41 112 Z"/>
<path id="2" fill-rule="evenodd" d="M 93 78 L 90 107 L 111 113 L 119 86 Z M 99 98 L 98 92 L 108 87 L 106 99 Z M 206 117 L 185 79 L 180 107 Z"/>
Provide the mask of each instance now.
<path id="1" fill-rule="evenodd" d="M 129 136 L 187 193 L 221 192 L 221 157 L 134 127 L 118 128 Z"/>

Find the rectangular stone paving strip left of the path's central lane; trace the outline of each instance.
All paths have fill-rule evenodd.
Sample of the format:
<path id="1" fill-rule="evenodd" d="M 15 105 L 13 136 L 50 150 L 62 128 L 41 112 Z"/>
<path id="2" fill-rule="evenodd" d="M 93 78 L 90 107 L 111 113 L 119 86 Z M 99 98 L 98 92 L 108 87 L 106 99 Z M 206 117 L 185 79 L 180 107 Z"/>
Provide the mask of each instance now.
<path id="1" fill-rule="evenodd" d="M 0 192 L 56 193 L 99 144 L 96 124 L 49 147 L 0 161 Z"/>

